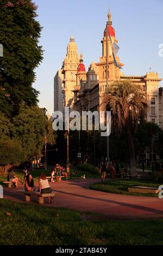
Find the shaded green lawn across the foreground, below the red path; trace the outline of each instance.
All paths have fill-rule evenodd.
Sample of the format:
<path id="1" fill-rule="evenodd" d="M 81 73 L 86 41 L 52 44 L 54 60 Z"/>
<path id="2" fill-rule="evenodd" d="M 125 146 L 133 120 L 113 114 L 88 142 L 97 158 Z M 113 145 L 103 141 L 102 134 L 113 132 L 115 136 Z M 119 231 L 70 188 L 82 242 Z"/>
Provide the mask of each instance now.
<path id="1" fill-rule="evenodd" d="M 160 232 L 163 220 L 84 221 L 83 213 L 78 211 L 18 204 L 5 199 L 0 199 L 0 207 L 0 245 L 163 243 L 163 233 Z"/>

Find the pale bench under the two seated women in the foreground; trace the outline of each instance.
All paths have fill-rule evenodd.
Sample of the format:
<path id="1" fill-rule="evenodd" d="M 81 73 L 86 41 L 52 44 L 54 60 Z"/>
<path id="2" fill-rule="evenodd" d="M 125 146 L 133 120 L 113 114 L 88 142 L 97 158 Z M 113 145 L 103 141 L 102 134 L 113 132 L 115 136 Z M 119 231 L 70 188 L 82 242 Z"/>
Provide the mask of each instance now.
<path id="1" fill-rule="evenodd" d="M 30 202 L 30 196 L 36 196 L 39 198 L 39 204 L 43 204 L 44 203 L 44 198 L 45 197 L 54 197 L 55 193 L 46 193 L 46 194 L 41 194 L 38 192 L 34 192 L 34 191 L 25 191 L 25 190 L 18 190 L 18 193 L 24 194 L 25 198 L 26 198 L 26 202 Z"/>

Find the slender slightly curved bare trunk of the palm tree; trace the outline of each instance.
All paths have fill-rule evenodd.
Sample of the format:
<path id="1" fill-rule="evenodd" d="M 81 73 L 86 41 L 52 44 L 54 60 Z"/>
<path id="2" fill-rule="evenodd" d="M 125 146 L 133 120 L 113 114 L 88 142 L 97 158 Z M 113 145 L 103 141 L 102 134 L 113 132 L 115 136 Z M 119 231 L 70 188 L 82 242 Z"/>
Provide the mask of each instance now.
<path id="1" fill-rule="evenodd" d="M 130 156 L 130 175 L 131 175 L 131 178 L 137 178 L 134 142 L 133 142 L 133 137 L 131 135 L 131 129 L 129 124 L 126 124 L 126 131 L 127 131 L 129 156 Z"/>

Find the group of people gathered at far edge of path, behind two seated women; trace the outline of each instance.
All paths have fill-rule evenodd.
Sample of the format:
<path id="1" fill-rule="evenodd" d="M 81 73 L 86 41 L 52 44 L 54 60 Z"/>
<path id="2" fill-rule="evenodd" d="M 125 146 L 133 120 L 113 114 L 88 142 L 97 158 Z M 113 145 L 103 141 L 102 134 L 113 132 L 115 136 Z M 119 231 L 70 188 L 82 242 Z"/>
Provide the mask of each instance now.
<path id="1" fill-rule="evenodd" d="M 54 182 L 54 179 L 60 182 L 61 177 L 64 176 L 66 180 L 68 180 L 68 176 L 64 166 L 60 166 L 59 163 L 55 165 L 54 168 L 51 169 L 51 182 Z"/>

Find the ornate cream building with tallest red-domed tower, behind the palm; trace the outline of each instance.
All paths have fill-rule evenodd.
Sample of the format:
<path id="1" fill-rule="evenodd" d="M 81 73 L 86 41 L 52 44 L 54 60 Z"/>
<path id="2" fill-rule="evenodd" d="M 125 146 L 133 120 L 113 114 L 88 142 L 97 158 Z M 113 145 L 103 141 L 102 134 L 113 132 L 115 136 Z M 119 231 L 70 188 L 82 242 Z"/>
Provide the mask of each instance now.
<path id="1" fill-rule="evenodd" d="M 111 14 L 108 13 L 107 26 L 109 29 L 112 42 L 117 43 L 115 29 L 112 27 Z M 163 107 L 162 96 L 159 95 L 159 78 L 158 73 L 149 72 L 144 76 L 126 76 L 115 65 L 114 56 L 111 50 L 111 41 L 108 36 L 108 84 L 111 84 L 115 80 L 131 80 L 134 83 L 140 84 L 142 90 L 145 91 L 149 99 L 149 108 L 147 112 L 147 121 L 152 121 L 158 124 L 163 129 Z M 79 112 L 82 111 L 95 111 L 101 106 L 101 99 L 108 89 L 106 88 L 106 28 L 104 30 L 104 37 L 102 39 L 102 57 L 99 58 L 99 63 L 92 62 L 89 70 L 86 73 L 86 79 L 82 78 L 77 83 L 77 90 L 74 89 L 74 109 Z M 119 66 L 124 64 L 120 62 L 117 54 L 115 54 L 116 62 Z M 75 88 L 76 88 L 75 87 Z M 160 90 L 160 93 L 162 91 Z"/>

